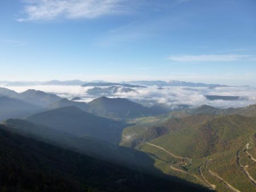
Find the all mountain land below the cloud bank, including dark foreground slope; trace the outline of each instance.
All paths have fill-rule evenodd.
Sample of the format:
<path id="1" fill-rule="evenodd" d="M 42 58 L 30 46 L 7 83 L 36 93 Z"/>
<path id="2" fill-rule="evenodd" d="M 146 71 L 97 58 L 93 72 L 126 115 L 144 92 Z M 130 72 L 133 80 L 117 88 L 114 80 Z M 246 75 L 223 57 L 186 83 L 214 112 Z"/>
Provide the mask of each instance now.
<path id="1" fill-rule="evenodd" d="M 172 109 L 164 104 L 145 107 L 125 98 L 77 102 L 38 90 L 16 93 L 1 88 L 0 95 L 0 119 L 4 120 L 0 151 L 6 154 L 0 158 L 0 187 L 255 190 L 256 104 Z M 238 97 L 205 97 L 241 101 Z M 31 183 L 27 182 L 33 181 L 30 173 L 35 174 Z M 146 179 L 141 182 L 141 178 Z M 141 186 L 149 180 L 159 181 L 159 185 Z"/>

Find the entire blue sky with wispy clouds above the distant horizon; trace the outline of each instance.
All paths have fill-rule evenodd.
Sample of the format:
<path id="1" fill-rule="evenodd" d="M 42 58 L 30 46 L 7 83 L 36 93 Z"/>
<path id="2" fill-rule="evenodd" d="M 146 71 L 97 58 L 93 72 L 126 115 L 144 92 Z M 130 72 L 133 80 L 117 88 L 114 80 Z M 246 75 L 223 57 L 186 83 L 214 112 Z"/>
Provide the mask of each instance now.
<path id="1" fill-rule="evenodd" d="M 1 80 L 256 86 L 255 0 L 0 1 Z"/>

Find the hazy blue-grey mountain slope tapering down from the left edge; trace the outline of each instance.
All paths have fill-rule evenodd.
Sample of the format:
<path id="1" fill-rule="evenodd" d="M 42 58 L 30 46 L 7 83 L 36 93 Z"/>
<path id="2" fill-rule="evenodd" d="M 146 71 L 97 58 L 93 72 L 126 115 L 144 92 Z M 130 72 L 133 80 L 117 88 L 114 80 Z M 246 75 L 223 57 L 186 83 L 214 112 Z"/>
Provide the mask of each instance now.
<path id="1" fill-rule="evenodd" d="M 39 106 L 32 105 L 19 99 L 0 96 L 0 120 L 9 118 L 23 118 L 40 110 Z"/>

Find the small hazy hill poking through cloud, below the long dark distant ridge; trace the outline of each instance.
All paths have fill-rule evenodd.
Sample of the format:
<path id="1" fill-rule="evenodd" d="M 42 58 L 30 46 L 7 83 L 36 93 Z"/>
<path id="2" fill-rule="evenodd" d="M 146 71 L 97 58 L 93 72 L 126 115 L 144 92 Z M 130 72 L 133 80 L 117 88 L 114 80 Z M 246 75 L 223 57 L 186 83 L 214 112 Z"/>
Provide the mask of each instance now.
<path id="1" fill-rule="evenodd" d="M 134 89 L 127 88 L 127 87 L 121 87 L 121 86 L 110 86 L 106 88 L 101 87 L 93 87 L 92 89 L 88 89 L 86 93 L 89 95 L 104 95 L 104 96 L 112 96 L 116 93 L 129 93 L 129 92 L 136 92 Z"/>

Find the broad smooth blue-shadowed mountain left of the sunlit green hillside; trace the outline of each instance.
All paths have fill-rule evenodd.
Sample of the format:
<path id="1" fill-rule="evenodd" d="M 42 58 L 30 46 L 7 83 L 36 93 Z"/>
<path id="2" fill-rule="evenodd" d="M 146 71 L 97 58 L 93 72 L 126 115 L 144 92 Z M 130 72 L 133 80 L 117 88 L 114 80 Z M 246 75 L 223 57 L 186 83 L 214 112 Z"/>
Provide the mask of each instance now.
<path id="1" fill-rule="evenodd" d="M 102 118 L 70 106 L 31 115 L 26 120 L 75 136 L 92 136 L 110 143 L 118 143 L 126 124 Z"/>

